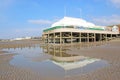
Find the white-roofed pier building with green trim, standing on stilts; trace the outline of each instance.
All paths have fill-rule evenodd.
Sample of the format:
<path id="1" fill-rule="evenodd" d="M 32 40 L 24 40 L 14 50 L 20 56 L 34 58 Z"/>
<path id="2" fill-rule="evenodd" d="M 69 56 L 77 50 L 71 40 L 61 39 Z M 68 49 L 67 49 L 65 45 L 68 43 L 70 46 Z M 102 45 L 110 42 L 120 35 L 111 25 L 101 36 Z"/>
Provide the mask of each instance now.
<path id="1" fill-rule="evenodd" d="M 83 19 L 64 17 L 43 31 L 43 40 L 45 43 L 58 44 L 94 42 L 116 37 L 117 34 Z"/>

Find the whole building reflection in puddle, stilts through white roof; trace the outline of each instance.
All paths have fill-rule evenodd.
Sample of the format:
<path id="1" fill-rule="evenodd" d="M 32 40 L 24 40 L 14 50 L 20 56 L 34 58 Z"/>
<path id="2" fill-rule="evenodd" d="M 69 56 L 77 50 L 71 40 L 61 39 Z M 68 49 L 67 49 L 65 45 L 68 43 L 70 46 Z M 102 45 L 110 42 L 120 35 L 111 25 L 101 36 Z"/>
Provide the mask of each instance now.
<path id="1" fill-rule="evenodd" d="M 67 49 L 60 46 L 47 46 L 44 47 L 44 52 L 52 55 L 52 62 L 64 70 L 71 70 L 84 67 L 88 64 L 100 61 L 99 59 L 92 59 L 80 55 L 67 54 Z"/>

